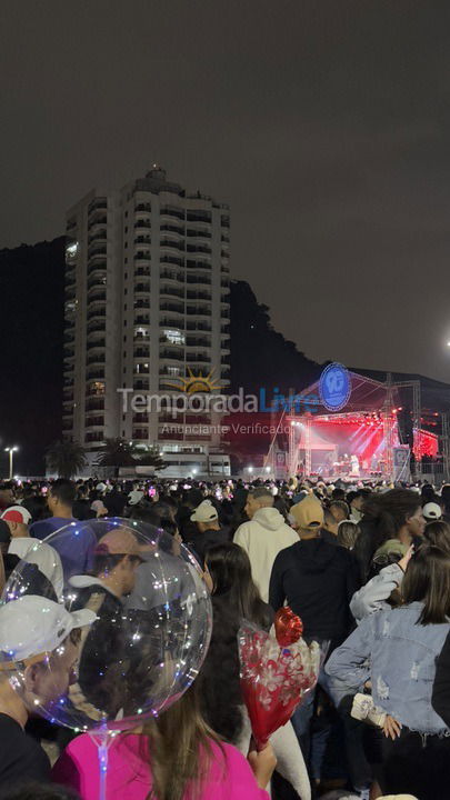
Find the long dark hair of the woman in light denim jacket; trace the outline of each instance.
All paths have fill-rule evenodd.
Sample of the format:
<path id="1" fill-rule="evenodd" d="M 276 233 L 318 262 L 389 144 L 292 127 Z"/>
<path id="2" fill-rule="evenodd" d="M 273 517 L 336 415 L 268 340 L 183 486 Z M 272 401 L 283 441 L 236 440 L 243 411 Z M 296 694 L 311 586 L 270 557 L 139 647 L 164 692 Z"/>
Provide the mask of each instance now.
<path id="1" fill-rule="evenodd" d="M 401 586 L 406 603 L 419 600 L 423 610 L 420 624 L 441 624 L 450 616 L 450 553 L 424 544 L 408 564 Z"/>

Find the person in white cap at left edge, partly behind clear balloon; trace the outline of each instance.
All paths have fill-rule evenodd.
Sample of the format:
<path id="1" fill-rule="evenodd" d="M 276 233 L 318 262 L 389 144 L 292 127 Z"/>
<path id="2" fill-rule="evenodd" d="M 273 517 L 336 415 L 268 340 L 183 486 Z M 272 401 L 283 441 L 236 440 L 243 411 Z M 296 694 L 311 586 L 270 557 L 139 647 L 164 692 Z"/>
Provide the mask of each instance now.
<path id="1" fill-rule="evenodd" d="M 46 707 L 67 691 L 79 657 L 80 629 L 94 619 L 91 611 L 69 613 L 60 603 L 33 594 L 0 608 L 0 787 L 50 779 L 46 752 L 24 732 L 28 708 L 34 701 Z M 23 676 L 22 694 L 9 680 L 18 671 Z"/>

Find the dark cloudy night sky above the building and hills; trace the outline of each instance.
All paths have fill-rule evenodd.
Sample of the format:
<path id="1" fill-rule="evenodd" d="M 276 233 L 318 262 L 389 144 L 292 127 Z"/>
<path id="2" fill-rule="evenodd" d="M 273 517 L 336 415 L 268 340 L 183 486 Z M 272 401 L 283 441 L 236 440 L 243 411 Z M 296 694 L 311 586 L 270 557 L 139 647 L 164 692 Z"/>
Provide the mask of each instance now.
<path id="1" fill-rule="evenodd" d="M 0 247 L 158 160 L 311 358 L 450 381 L 450 2 L 14 0 Z"/>

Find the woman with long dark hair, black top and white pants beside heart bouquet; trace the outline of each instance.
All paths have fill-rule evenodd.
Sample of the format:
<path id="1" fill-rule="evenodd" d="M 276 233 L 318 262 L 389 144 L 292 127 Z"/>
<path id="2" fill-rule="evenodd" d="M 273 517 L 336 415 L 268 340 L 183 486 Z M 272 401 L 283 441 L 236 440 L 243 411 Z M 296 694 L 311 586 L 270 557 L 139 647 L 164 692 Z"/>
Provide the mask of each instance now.
<path id="1" fill-rule="evenodd" d="M 207 551 L 206 581 L 211 591 L 213 628 L 198 678 L 202 714 L 216 733 L 247 753 L 251 730 L 240 688 L 238 631 L 242 620 L 268 631 L 273 611 L 253 583 L 249 557 L 233 542 Z M 271 737 L 271 744 L 279 774 L 301 800 L 309 800 L 308 773 L 290 722 Z"/>

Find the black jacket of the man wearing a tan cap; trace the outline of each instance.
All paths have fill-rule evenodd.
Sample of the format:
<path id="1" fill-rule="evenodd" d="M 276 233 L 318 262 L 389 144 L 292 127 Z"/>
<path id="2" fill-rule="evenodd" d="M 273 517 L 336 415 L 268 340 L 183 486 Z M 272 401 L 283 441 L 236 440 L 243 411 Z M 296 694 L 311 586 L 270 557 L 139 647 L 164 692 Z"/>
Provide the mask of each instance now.
<path id="1" fill-rule="evenodd" d="M 321 538 L 303 539 L 278 553 L 269 602 L 278 611 L 287 600 L 301 617 L 307 640 L 331 640 L 336 647 L 353 624 L 349 603 L 358 588 L 358 567 L 349 550 Z"/>

